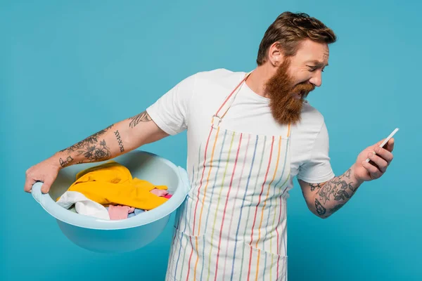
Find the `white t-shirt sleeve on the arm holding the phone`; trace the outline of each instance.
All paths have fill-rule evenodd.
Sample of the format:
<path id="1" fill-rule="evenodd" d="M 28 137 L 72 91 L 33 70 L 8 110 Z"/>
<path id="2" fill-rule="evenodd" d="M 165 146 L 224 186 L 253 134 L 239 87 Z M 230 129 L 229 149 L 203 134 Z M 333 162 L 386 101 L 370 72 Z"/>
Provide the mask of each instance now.
<path id="1" fill-rule="evenodd" d="M 311 157 L 299 167 L 297 178 L 307 183 L 323 183 L 335 176 L 328 157 L 329 139 L 325 122 L 317 134 Z"/>

